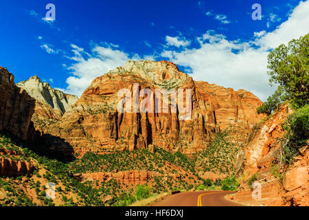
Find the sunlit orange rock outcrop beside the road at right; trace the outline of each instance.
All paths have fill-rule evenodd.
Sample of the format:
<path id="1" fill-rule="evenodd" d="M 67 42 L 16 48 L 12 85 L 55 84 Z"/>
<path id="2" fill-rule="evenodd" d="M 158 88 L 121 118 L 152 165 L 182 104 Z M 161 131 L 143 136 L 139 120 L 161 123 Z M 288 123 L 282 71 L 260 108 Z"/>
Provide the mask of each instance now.
<path id="1" fill-rule="evenodd" d="M 279 168 L 277 139 L 284 135 L 282 123 L 292 113 L 285 104 L 257 129 L 248 146 L 238 154 L 236 173 L 242 177 L 233 200 L 253 206 L 309 206 L 309 146 L 289 166 Z M 255 174 L 255 183 L 261 186 L 261 197 L 253 197 L 248 181 Z"/>

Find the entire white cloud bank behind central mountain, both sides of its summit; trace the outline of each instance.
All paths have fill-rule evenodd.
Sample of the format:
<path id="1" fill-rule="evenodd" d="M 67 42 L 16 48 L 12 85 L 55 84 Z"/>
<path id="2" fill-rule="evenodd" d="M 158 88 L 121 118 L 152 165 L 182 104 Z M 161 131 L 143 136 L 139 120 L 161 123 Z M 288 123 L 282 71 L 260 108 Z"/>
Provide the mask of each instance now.
<path id="1" fill-rule="evenodd" d="M 165 47 L 159 58 L 169 58 L 177 65 L 190 69 L 194 80 L 216 83 L 236 90 L 246 89 L 264 101 L 275 90 L 269 86 L 266 74 L 269 50 L 307 34 L 308 11 L 309 1 L 299 3 L 288 17 L 288 21 L 279 25 L 273 32 L 254 32 L 251 41 L 231 41 L 215 31 L 207 31 L 196 37 L 198 47 L 188 49 L 186 46 L 190 45 L 190 41 L 181 36 L 166 36 L 167 45 L 179 47 L 180 51 L 175 52 Z M 75 62 L 67 67 L 64 65 L 73 74 L 67 78 L 68 87 L 65 91 L 78 96 L 89 87 L 94 78 L 124 65 L 130 59 L 158 58 L 157 54 L 143 58 L 137 54 L 129 56 L 108 43 L 104 46 L 93 45 L 90 53 L 77 45 L 71 47 L 73 56 L 67 58 Z"/>

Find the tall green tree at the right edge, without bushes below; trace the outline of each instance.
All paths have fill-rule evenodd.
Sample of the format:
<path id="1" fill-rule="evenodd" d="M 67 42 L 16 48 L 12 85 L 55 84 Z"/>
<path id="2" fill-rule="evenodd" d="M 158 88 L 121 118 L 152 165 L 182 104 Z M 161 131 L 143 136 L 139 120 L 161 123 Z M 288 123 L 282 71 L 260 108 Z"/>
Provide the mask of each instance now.
<path id="1" fill-rule="evenodd" d="M 279 45 L 268 54 L 271 83 L 279 83 L 295 108 L 308 104 L 309 34 Z"/>

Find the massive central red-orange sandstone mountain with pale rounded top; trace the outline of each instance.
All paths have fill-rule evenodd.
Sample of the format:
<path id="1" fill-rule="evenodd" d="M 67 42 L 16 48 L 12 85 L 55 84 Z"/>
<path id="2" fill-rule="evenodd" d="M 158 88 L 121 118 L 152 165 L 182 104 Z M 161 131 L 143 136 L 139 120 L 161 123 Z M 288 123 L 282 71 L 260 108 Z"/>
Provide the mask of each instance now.
<path id="1" fill-rule="evenodd" d="M 138 83 L 137 93 L 134 84 Z M 181 120 L 187 111 L 187 95 L 176 100 L 176 112 L 121 113 L 117 105 L 120 89 L 128 89 L 132 99 L 142 89 L 192 89 L 192 115 Z M 146 96 L 148 97 L 148 96 Z M 157 101 L 149 94 L 150 100 Z M 170 98 L 171 99 L 171 98 Z M 138 103 L 141 104 L 143 98 Z M 163 110 L 163 103 L 161 110 Z M 78 153 L 86 151 L 133 150 L 153 145 L 183 153 L 204 148 L 214 133 L 233 126 L 236 140 L 244 142 L 253 124 L 260 120 L 256 108 L 262 102 L 248 91 L 233 91 L 218 85 L 195 82 L 180 72 L 173 63 L 161 61 L 129 61 L 98 77 L 56 123 L 47 126 L 45 133 L 65 139 Z M 148 107 L 148 104 L 146 104 Z M 134 104 L 131 107 L 133 112 Z"/>

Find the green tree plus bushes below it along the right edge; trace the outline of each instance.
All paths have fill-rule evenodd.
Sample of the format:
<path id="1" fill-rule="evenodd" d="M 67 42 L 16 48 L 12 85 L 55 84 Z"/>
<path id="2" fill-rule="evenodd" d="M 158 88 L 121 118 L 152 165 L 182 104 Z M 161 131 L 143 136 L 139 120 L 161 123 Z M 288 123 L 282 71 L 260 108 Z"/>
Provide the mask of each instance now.
<path id="1" fill-rule="evenodd" d="M 309 34 L 279 45 L 268 55 L 267 67 L 270 82 L 279 87 L 257 111 L 269 115 L 284 101 L 295 109 L 283 124 L 286 133 L 279 139 L 277 161 L 280 165 L 291 164 L 309 137 Z"/>

